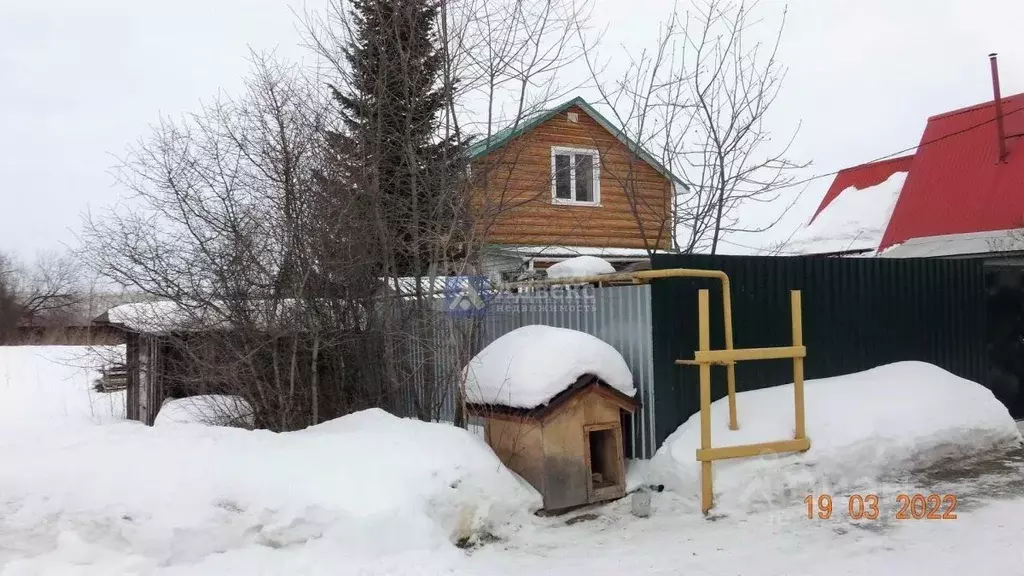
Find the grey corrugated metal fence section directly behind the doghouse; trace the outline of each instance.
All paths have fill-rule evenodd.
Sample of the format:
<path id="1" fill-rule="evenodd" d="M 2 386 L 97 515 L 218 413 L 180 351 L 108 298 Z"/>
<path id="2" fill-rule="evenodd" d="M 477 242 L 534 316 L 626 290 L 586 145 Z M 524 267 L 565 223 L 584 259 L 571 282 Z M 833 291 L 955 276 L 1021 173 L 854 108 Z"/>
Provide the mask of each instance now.
<path id="1" fill-rule="evenodd" d="M 521 326 L 543 324 L 580 330 L 608 342 L 633 371 L 641 403 L 630 424 L 631 454 L 649 458 L 654 448 L 654 366 L 650 286 L 587 289 L 581 297 L 501 294 L 478 319 L 476 349 Z"/>

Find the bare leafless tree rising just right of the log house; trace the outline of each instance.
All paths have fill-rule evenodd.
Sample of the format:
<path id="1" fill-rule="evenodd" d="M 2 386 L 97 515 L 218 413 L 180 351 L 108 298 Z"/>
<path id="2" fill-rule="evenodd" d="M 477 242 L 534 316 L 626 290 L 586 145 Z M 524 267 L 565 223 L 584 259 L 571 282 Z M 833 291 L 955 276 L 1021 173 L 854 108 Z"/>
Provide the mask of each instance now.
<path id="1" fill-rule="evenodd" d="M 596 53 L 586 54 L 601 104 L 636 145 L 635 162 L 648 151 L 682 180 L 667 218 L 680 251 L 716 253 L 723 235 L 773 227 L 784 211 L 751 227 L 740 208 L 775 202 L 807 166 L 787 158 L 796 131 L 776 146 L 765 125 L 785 77 L 777 58 L 784 13 L 773 41 L 763 43 L 751 40 L 756 9 L 757 2 L 701 0 L 673 12 L 654 47 L 631 55 L 614 82 L 602 81 Z M 638 219 L 656 211 L 631 183 L 635 168 L 621 172 Z"/>

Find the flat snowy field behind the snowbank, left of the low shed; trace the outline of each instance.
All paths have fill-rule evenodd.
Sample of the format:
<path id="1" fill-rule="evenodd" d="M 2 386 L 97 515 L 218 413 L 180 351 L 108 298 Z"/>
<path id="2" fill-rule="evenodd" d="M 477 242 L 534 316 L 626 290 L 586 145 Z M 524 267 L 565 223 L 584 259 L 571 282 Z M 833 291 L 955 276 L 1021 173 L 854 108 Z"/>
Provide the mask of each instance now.
<path id="1" fill-rule="evenodd" d="M 15 430 L 95 424 L 125 417 L 125 393 L 93 389 L 124 346 L 0 346 L 0 442 Z"/>

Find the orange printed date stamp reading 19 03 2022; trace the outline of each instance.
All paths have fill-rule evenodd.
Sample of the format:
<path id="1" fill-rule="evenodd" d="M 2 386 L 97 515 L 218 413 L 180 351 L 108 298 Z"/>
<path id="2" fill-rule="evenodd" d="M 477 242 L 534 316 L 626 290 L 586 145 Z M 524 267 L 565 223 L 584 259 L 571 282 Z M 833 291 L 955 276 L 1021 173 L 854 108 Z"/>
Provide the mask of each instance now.
<path id="1" fill-rule="evenodd" d="M 804 503 L 810 520 L 833 517 L 833 497 L 828 494 L 808 494 Z M 886 515 L 883 508 L 891 507 L 890 513 L 895 520 L 956 520 L 954 494 L 897 494 L 895 503 L 895 506 L 883 506 L 876 494 L 851 494 L 847 499 L 846 516 L 850 520 L 879 520 Z"/>

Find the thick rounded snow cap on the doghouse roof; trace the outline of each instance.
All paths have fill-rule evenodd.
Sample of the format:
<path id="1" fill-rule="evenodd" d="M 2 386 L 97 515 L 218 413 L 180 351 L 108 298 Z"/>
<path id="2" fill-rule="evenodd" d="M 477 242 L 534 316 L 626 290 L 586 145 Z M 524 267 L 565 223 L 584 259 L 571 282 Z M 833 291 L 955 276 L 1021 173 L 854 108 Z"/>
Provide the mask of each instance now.
<path id="1" fill-rule="evenodd" d="M 529 325 L 490 342 L 466 367 L 466 395 L 474 404 L 536 408 L 593 374 L 627 396 L 633 373 L 607 342 L 585 332 Z"/>

